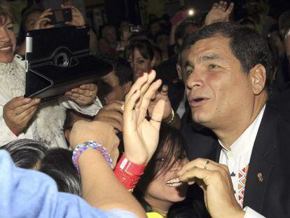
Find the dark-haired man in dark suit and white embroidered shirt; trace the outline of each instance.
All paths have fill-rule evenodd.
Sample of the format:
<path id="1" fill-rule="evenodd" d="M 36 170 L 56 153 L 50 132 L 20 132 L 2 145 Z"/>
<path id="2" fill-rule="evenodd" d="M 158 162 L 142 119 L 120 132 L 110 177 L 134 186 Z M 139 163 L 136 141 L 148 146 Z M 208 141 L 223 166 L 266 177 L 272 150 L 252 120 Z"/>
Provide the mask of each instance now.
<path id="1" fill-rule="evenodd" d="M 266 103 L 267 43 L 229 22 L 203 27 L 186 43 L 192 118 L 218 140 L 215 161 L 197 158 L 179 179 L 202 188 L 212 217 L 290 217 L 290 123 Z"/>

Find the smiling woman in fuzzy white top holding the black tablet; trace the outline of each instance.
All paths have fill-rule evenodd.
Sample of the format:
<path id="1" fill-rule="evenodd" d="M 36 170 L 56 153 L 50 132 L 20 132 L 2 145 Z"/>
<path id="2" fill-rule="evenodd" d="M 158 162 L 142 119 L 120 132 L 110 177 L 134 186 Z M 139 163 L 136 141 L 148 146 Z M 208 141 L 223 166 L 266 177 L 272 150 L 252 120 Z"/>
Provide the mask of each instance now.
<path id="1" fill-rule="evenodd" d="M 25 61 L 15 55 L 14 20 L 13 8 L 0 1 L 0 145 L 25 138 L 65 148 L 62 126 L 66 109 L 95 115 L 101 107 L 97 86 L 84 84 L 49 102 L 23 97 Z"/>

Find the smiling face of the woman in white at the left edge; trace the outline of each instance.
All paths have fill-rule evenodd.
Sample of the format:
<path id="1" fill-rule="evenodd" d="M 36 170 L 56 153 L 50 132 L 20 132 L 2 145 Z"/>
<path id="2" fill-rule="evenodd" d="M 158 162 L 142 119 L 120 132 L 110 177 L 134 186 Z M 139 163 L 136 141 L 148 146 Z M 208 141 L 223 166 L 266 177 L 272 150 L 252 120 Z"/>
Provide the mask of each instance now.
<path id="1" fill-rule="evenodd" d="M 5 20 L 5 18 L 0 18 Z M 16 38 L 13 30 L 13 23 L 10 18 L 7 18 L 4 23 L 0 24 L 0 62 L 10 63 L 13 61 Z"/>

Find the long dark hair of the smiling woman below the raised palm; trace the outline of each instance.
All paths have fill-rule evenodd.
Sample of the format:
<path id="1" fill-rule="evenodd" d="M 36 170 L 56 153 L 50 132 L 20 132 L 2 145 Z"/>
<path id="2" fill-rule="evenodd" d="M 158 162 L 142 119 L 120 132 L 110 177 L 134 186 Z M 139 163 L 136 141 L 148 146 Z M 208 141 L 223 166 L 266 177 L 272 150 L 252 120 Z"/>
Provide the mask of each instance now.
<path id="1" fill-rule="evenodd" d="M 153 179 L 170 170 L 174 163 L 184 158 L 186 152 L 185 144 L 184 137 L 177 128 L 162 123 L 158 147 L 146 165 L 144 175 L 139 180 L 134 193 L 137 193 L 137 195 L 139 193 L 143 196 L 147 186 Z"/>

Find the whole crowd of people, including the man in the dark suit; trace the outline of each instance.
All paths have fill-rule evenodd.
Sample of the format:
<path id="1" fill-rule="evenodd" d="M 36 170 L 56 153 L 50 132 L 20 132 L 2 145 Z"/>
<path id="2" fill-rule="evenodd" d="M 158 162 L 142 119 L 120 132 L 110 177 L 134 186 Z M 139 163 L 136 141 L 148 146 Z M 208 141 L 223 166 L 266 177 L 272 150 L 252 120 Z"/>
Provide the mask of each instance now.
<path id="1" fill-rule="evenodd" d="M 90 29 L 113 70 L 43 102 L 25 35 L 62 27 L 0 1 L 0 217 L 290 217 L 290 11 L 245 2 Z"/>

